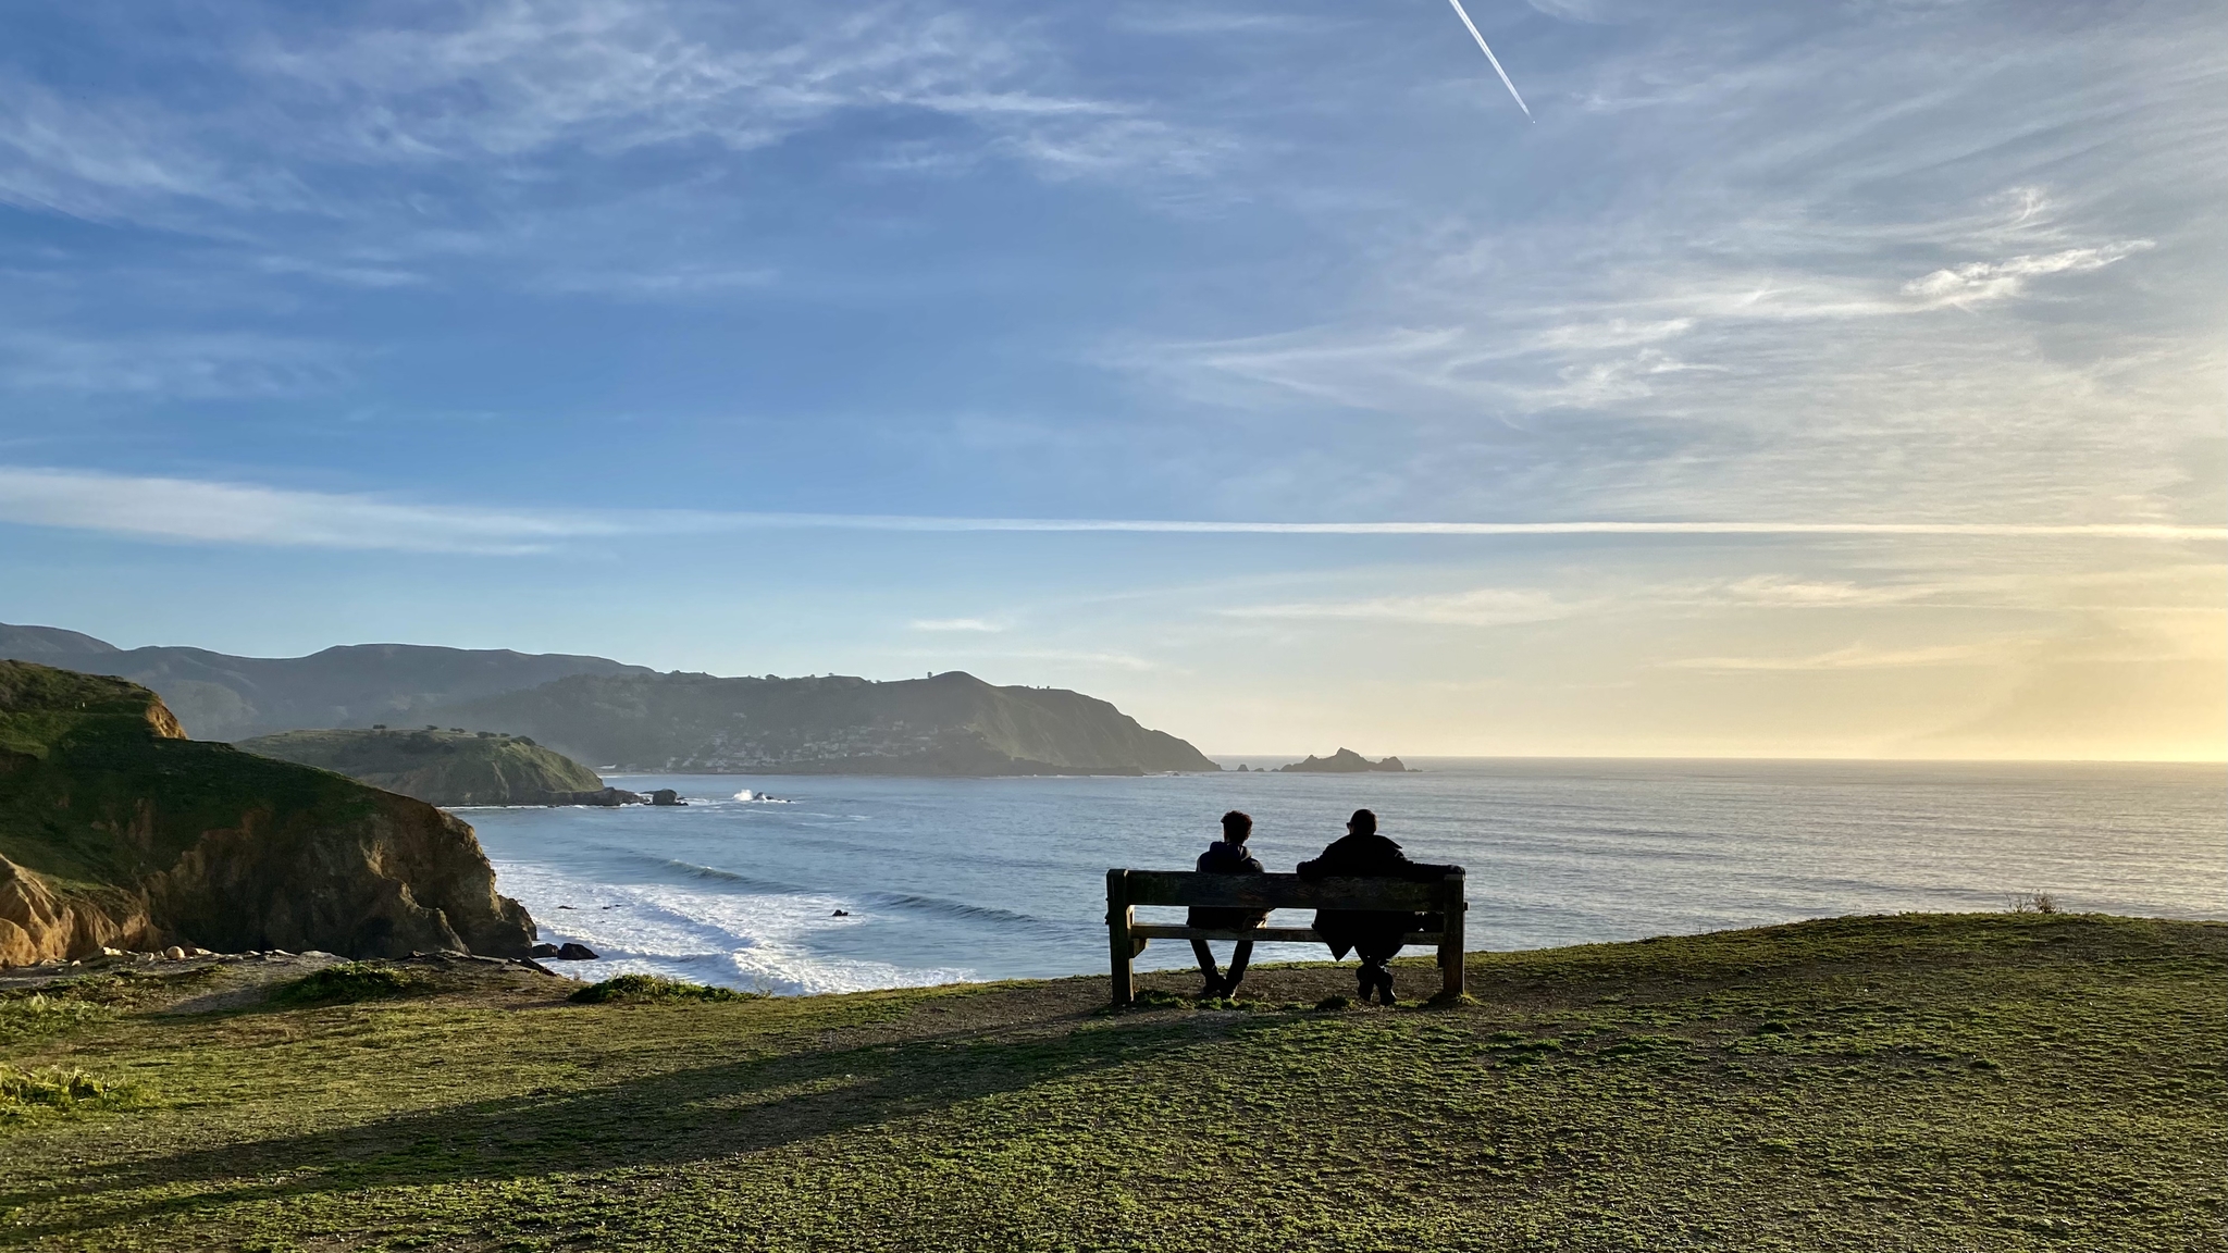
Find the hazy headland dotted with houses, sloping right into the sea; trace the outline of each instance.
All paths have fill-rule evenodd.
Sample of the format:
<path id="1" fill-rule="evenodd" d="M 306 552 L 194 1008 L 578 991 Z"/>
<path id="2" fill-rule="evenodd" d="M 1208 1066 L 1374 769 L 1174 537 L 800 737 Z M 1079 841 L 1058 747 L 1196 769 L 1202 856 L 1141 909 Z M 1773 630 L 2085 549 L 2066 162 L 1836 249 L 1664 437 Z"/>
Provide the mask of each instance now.
<path id="1" fill-rule="evenodd" d="M 579 676 L 441 711 L 590 763 L 659 771 L 1145 774 L 1221 769 L 1105 700 L 971 673 L 864 678 Z"/>

